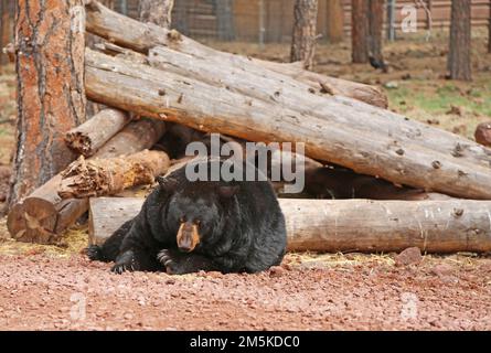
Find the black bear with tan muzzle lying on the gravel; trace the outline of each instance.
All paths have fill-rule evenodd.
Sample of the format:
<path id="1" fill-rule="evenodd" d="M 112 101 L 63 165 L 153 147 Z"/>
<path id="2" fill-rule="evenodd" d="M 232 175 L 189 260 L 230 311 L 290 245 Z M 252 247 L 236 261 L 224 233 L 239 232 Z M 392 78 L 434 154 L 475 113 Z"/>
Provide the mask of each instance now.
<path id="1" fill-rule="evenodd" d="M 222 170 L 231 161 L 205 159 L 190 168 Z M 242 175 L 217 181 L 186 178 L 183 167 L 159 178 L 141 212 L 103 246 L 93 260 L 115 261 L 113 271 L 183 275 L 200 270 L 258 272 L 279 265 L 286 250 L 285 217 L 268 181 L 244 181 L 248 163 L 233 162 Z M 237 181 L 237 179 L 239 179 Z"/>

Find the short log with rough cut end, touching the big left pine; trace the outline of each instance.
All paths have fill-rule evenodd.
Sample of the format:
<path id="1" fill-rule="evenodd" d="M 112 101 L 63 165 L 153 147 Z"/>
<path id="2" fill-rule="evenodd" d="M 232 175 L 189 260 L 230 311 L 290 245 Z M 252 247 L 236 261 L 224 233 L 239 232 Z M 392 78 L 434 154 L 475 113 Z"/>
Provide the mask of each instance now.
<path id="1" fill-rule="evenodd" d="M 84 157 L 94 156 L 130 120 L 130 115 L 125 111 L 110 108 L 100 110 L 92 119 L 66 132 L 65 143 Z"/>

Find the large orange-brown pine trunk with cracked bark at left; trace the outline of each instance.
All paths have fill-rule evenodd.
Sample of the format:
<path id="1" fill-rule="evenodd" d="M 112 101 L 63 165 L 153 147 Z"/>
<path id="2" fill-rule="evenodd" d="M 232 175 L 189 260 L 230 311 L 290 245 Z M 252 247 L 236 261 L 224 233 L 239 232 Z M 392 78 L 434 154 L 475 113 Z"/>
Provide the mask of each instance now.
<path id="1" fill-rule="evenodd" d="M 83 1 L 42 4 L 17 2 L 18 136 L 10 205 L 74 160 L 64 133 L 85 121 Z"/>

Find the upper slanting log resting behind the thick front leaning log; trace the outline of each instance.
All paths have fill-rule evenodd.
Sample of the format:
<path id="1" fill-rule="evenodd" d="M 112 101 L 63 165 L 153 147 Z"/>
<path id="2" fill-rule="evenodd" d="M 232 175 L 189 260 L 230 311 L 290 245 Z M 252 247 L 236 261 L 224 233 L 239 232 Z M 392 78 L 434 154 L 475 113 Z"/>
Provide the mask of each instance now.
<path id="1" fill-rule="evenodd" d="M 401 115 L 352 99 L 306 94 L 309 92 L 308 86 L 280 74 L 254 67 L 245 57 L 236 56 L 233 61 L 225 61 L 216 55 L 182 54 L 169 47 L 157 46 L 149 52 L 149 63 L 166 72 L 199 79 L 246 97 L 266 103 L 273 100 L 278 105 L 271 111 L 274 115 L 287 107 L 324 120 L 329 125 L 339 124 L 361 130 L 363 133 L 377 131 L 388 137 L 396 136 L 397 143 L 404 142 L 410 146 L 424 143 L 428 148 L 448 151 L 456 158 L 467 156 L 480 164 L 490 167 L 491 150 L 488 150 L 490 154 L 487 156 L 482 153 L 482 148 L 479 146 L 477 149 L 473 148 L 465 138 L 416 121 L 408 121 Z M 324 88 L 327 89 L 325 86 Z M 404 153 L 404 149 L 398 152 Z"/>

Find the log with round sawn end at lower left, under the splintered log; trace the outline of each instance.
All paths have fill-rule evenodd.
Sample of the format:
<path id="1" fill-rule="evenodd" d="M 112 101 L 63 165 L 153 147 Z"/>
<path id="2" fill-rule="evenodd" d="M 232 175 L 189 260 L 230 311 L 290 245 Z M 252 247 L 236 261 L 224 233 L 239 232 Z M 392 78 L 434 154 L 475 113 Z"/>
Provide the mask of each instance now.
<path id="1" fill-rule="evenodd" d="M 94 158 L 111 158 L 151 148 L 164 131 L 166 124 L 162 121 L 132 121 Z M 87 212 L 87 199 L 62 200 L 58 196 L 61 181 L 62 174 L 58 173 L 10 210 L 7 227 L 14 239 L 39 244 L 56 243 L 62 232 Z"/>

